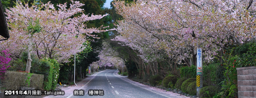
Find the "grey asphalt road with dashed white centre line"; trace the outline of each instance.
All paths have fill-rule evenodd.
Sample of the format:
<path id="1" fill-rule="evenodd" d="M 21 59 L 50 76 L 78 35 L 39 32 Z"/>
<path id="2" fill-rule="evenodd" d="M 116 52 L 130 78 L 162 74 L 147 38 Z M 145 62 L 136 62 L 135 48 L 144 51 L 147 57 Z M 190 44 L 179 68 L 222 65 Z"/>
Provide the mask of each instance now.
<path id="1" fill-rule="evenodd" d="M 83 96 L 70 93 L 69 96 L 62 98 L 189 98 L 132 81 L 118 75 L 117 72 L 118 70 L 98 72 L 78 89 L 84 90 Z M 104 95 L 90 96 L 89 90 L 103 90 Z"/>

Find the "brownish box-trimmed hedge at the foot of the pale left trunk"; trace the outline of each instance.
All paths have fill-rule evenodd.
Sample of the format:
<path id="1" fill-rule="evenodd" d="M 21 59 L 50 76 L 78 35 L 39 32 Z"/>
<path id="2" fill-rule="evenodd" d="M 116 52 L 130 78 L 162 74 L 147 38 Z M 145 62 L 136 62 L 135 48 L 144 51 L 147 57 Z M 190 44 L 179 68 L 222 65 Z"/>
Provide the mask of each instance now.
<path id="1" fill-rule="evenodd" d="M 28 86 L 34 87 L 37 90 L 43 88 L 43 75 L 32 74 L 29 79 L 28 76 L 30 75 L 25 72 L 7 71 L 4 79 L 7 87 L 6 90 L 18 90 L 19 87 Z"/>

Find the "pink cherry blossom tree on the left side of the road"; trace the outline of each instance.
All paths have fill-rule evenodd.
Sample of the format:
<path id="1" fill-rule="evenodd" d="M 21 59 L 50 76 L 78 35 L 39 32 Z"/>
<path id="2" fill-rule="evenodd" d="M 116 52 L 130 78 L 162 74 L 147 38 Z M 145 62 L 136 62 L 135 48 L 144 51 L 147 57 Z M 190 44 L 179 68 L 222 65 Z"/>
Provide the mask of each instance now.
<path id="1" fill-rule="evenodd" d="M 8 27 L 11 28 L 9 33 L 12 37 L 1 42 L 1 49 L 9 49 L 12 52 L 12 57 L 19 57 L 23 51 L 26 51 L 25 49 L 32 48 L 29 52 L 37 54 L 39 58 L 49 57 L 58 62 L 68 62 L 68 58 L 72 54 L 83 51 L 84 48 L 81 47 L 88 36 L 99 39 L 97 35 L 91 33 L 109 31 L 104 30 L 106 27 L 103 26 L 87 28 L 85 24 L 87 21 L 101 19 L 108 14 L 92 14 L 89 17 L 82 13 L 83 9 L 79 8 L 84 4 L 79 3 L 79 1 L 71 0 L 71 2 L 72 4 L 68 9 L 66 3 L 57 5 L 60 7 L 59 10 L 55 10 L 50 2 L 31 7 L 28 4 L 24 6 L 20 2 L 16 7 L 6 9 L 6 19 Z M 73 17 L 77 13 L 82 14 Z M 35 31 L 34 26 L 36 25 L 40 31 L 30 35 L 30 32 Z M 33 26 L 33 29 L 29 26 Z M 32 35 L 33 39 L 29 39 L 32 38 Z M 31 42 L 31 47 L 27 47 L 30 46 L 28 42 Z"/>

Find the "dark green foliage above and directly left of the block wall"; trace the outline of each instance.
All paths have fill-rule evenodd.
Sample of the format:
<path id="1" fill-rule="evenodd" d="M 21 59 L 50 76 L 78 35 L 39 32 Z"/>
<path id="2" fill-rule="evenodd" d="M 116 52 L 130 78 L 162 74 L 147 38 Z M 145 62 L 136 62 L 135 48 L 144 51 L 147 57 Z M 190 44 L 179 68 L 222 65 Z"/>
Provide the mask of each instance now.
<path id="1" fill-rule="evenodd" d="M 255 66 L 256 42 L 252 41 L 243 45 L 231 45 L 224 50 L 223 66 L 224 81 L 222 82 L 222 97 L 238 97 L 237 70 L 239 67 Z"/>

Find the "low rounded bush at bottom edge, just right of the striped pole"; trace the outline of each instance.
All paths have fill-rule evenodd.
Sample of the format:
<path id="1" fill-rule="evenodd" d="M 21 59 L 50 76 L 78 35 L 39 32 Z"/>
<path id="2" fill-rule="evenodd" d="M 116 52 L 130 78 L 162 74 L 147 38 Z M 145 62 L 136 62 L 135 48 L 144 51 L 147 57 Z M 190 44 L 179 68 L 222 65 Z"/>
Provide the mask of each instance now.
<path id="1" fill-rule="evenodd" d="M 200 90 L 200 97 L 201 98 L 213 98 L 218 92 L 218 88 L 216 86 L 207 86 L 203 87 Z"/>

